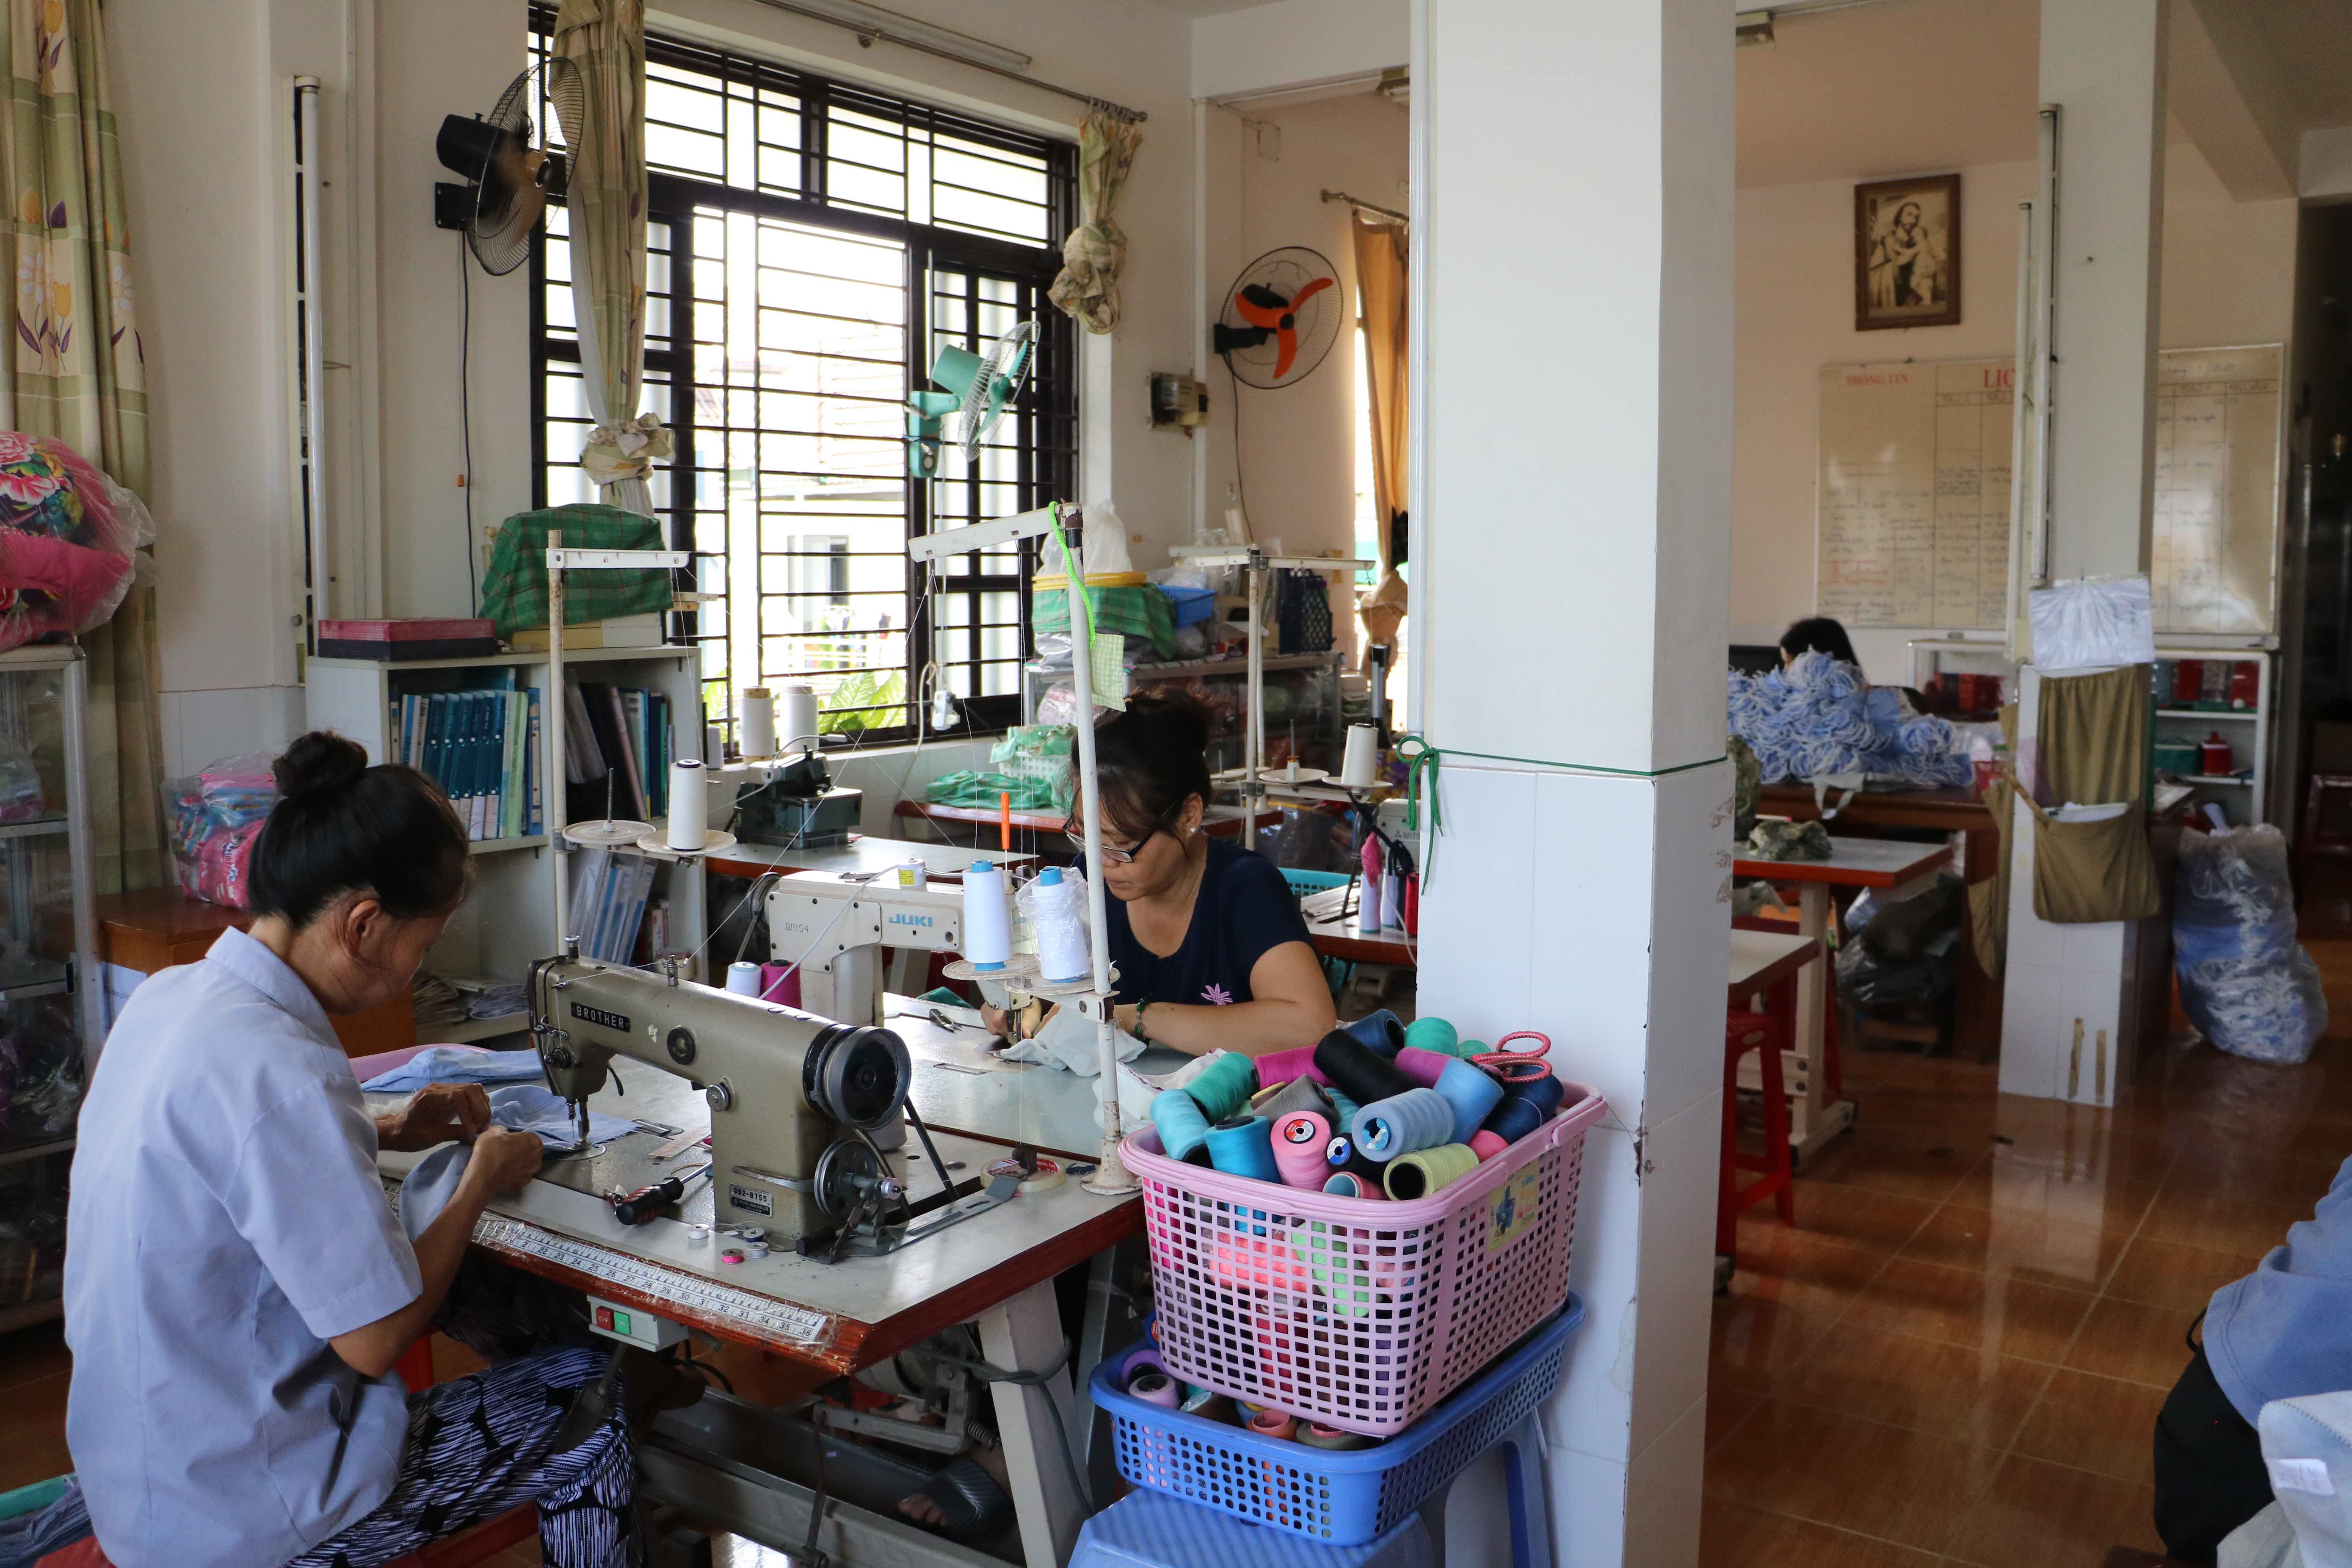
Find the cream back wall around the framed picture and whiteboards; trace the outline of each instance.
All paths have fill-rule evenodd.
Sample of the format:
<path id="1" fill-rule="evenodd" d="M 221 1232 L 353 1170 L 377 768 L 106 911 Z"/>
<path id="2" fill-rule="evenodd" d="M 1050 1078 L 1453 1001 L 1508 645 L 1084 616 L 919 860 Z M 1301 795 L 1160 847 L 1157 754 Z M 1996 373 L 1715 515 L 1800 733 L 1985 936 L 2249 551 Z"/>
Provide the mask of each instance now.
<path id="1" fill-rule="evenodd" d="M 1966 360 L 2016 350 L 2018 202 L 2032 165 L 1962 169 L 1962 320 L 1853 331 L 1853 181 L 1738 193 L 1731 639 L 1773 642 L 1813 614 L 1818 371 L 1851 360 Z M 2232 202 L 2187 141 L 2166 148 L 2161 346 L 2288 336 L 2296 202 Z M 1910 679 L 1905 642 L 1858 630 L 1875 679 Z"/>

